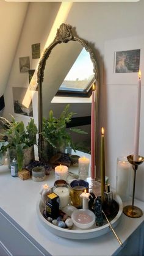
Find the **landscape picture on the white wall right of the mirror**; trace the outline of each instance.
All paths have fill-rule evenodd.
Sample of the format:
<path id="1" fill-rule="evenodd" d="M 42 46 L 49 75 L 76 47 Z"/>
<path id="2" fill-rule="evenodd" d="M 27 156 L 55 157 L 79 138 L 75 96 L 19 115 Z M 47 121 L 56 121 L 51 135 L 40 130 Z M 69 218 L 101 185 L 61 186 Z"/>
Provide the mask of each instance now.
<path id="1" fill-rule="evenodd" d="M 115 73 L 139 72 L 140 49 L 115 52 Z"/>

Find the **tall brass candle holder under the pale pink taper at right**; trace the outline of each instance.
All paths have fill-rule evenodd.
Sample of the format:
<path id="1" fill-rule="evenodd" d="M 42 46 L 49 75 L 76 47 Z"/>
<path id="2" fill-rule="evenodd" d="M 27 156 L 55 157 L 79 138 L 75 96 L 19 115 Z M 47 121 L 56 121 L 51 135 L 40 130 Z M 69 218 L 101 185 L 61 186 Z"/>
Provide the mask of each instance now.
<path id="1" fill-rule="evenodd" d="M 140 164 L 143 163 L 144 158 L 143 156 L 139 156 L 137 161 L 134 161 L 134 155 L 127 156 L 127 159 L 130 164 L 132 164 L 132 169 L 134 170 L 134 180 L 133 180 L 133 191 L 132 191 L 132 205 L 126 205 L 123 208 L 123 213 L 130 218 L 140 218 L 143 215 L 142 210 L 139 207 L 134 206 L 134 194 L 135 194 L 135 177 L 136 171 Z"/>

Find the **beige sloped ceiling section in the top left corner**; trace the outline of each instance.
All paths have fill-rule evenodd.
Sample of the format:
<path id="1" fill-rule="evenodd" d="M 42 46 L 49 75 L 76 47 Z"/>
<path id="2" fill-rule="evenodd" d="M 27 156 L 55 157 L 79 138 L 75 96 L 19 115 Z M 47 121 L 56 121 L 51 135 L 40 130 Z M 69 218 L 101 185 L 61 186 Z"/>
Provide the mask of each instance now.
<path id="1" fill-rule="evenodd" d="M 9 78 L 27 7 L 27 2 L 0 0 L 0 97 Z"/>

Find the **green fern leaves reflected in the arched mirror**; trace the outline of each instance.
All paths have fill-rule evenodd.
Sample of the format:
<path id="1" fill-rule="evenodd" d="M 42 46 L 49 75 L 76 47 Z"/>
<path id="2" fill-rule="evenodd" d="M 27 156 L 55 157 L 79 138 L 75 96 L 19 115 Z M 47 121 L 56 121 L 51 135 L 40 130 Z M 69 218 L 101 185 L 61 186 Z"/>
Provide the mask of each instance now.
<path id="1" fill-rule="evenodd" d="M 85 131 L 76 128 L 67 129 L 67 123 L 71 122 L 74 114 L 69 112 L 70 104 L 63 109 L 59 118 L 54 117 L 52 110 L 49 111 L 49 118 L 43 118 L 43 131 L 41 132 L 45 141 L 53 148 L 67 147 L 69 144 L 75 150 L 71 133 L 87 134 Z"/>

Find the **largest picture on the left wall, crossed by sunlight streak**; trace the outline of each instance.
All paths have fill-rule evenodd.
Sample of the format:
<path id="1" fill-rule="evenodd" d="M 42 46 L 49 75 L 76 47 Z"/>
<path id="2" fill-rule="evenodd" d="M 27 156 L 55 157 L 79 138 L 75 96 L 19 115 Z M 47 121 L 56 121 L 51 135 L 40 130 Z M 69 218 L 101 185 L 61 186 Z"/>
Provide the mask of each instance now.
<path id="1" fill-rule="evenodd" d="M 16 114 L 26 115 L 29 117 L 33 117 L 33 111 L 32 111 L 32 97 L 29 95 L 27 99 L 30 101 L 29 106 L 27 106 L 23 103 L 24 97 L 27 93 L 26 87 L 13 87 L 13 107 L 14 112 Z"/>

